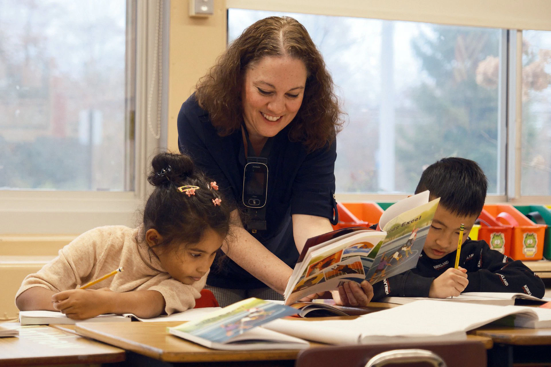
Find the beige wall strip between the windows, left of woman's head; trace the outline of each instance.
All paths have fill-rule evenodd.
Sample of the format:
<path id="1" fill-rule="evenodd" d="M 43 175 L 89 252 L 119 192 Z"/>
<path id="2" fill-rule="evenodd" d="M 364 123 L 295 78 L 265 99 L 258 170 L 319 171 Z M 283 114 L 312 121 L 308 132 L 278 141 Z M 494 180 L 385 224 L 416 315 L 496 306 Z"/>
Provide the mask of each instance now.
<path id="1" fill-rule="evenodd" d="M 226 4 L 214 1 L 209 18 L 188 16 L 187 0 L 170 2 L 168 147 L 178 151 L 176 120 L 197 80 L 226 48 Z"/>

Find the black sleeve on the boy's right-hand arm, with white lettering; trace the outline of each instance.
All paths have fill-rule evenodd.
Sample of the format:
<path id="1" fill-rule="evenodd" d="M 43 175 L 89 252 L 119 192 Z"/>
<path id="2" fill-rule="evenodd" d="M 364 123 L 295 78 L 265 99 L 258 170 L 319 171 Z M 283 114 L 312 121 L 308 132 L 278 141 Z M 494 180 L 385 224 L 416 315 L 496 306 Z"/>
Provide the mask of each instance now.
<path id="1" fill-rule="evenodd" d="M 542 298 L 542 280 L 520 260 L 513 260 L 483 242 L 477 249 L 476 271 L 467 272 L 469 284 L 464 292 L 526 293 Z"/>

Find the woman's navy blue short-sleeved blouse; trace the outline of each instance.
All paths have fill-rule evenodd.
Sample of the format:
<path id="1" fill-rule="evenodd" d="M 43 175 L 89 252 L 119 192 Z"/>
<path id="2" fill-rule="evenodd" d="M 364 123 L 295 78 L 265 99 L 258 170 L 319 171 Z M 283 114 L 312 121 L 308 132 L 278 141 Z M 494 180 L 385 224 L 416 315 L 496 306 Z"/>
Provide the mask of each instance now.
<path id="1" fill-rule="evenodd" d="M 274 136 L 268 155 L 267 229 L 251 234 L 285 264 L 294 267 L 298 251 L 291 215 L 333 220 L 337 152 L 333 141 L 308 154 L 304 144 L 289 141 L 291 124 Z M 192 95 L 178 115 L 178 144 L 182 153 L 190 155 L 195 164 L 217 182 L 228 204 L 244 208 L 241 198 L 246 158 L 240 130 L 219 136 L 208 112 L 199 107 Z M 230 289 L 266 286 L 230 259 L 225 259 L 220 267 L 213 264 L 207 284 Z"/>

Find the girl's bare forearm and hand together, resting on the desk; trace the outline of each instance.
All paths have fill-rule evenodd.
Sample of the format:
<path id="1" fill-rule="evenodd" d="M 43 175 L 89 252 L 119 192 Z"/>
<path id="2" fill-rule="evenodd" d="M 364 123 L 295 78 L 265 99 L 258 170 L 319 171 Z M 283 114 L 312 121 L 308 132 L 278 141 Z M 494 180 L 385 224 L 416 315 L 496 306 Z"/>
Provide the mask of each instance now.
<path id="1" fill-rule="evenodd" d="M 134 314 L 144 319 L 164 312 L 165 299 L 157 291 L 111 292 L 102 289 L 72 289 L 51 297 L 53 308 L 70 319 L 83 320 L 101 314 Z"/>

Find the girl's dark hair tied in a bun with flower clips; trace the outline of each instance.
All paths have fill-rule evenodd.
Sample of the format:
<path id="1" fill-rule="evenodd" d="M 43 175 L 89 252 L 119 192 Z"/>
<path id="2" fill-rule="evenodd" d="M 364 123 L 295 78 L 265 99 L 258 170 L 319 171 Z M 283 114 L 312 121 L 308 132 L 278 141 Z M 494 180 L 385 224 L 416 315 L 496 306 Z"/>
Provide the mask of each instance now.
<path id="1" fill-rule="evenodd" d="M 155 186 L 143 213 L 144 231 L 154 228 L 163 242 L 169 245 L 175 240 L 193 244 L 201 240 L 206 229 L 211 228 L 222 237 L 230 229 L 230 209 L 220 191 L 210 187 L 210 180 L 195 167 L 185 154 L 160 153 L 151 163 L 148 181 Z M 196 186 L 195 195 L 187 195 L 178 188 Z M 213 200 L 220 199 L 220 205 Z"/>

